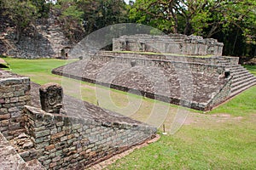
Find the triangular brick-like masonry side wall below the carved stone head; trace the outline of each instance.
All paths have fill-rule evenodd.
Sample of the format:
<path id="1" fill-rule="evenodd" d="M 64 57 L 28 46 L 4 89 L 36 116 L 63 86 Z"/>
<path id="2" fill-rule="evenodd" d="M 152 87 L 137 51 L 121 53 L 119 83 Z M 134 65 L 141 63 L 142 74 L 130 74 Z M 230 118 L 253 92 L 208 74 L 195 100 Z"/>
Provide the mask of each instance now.
<path id="1" fill-rule="evenodd" d="M 96 122 L 49 114 L 26 106 L 26 133 L 38 161 L 47 169 L 81 169 L 151 138 L 156 128 L 144 124 Z"/>

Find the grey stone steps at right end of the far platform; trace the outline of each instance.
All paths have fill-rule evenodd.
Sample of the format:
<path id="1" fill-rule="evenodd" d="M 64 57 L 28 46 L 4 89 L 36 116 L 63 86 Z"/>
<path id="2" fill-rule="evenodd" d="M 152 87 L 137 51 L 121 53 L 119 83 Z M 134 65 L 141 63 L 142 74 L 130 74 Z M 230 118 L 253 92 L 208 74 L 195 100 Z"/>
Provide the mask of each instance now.
<path id="1" fill-rule="evenodd" d="M 243 66 L 239 64 L 230 65 L 230 62 L 224 57 L 218 59 L 218 64 L 226 66 L 226 68 L 230 70 L 230 76 L 233 77 L 230 97 L 240 94 L 247 88 L 256 85 L 256 77 L 254 77 L 253 74 L 247 71 Z"/>

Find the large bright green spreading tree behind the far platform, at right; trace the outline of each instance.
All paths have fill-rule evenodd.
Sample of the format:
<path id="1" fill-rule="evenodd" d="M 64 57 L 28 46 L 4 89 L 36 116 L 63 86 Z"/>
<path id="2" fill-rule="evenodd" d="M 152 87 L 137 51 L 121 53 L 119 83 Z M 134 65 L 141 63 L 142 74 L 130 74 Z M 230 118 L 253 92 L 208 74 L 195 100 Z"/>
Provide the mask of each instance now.
<path id="1" fill-rule="evenodd" d="M 246 55 L 245 51 L 237 54 L 236 47 L 244 48 L 248 39 L 256 41 L 255 7 L 254 0 L 137 0 L 131 7 L 130 19 L 167 34 L 214 37 L 231 48 L 224 54 Z"/>

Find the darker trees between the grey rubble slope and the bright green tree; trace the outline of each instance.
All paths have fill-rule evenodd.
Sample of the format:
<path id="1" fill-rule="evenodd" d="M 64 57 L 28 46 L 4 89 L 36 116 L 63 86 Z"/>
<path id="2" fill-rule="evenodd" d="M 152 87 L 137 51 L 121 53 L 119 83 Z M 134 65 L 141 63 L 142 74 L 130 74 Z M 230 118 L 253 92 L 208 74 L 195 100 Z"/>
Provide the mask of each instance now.
<path id="1" fill-rule="evenodd" d="M 53 8 L 60 14 L 62 28 L 73 42 L 92 31 L 127 20 L 123 0 L 59 0 Z"/>

